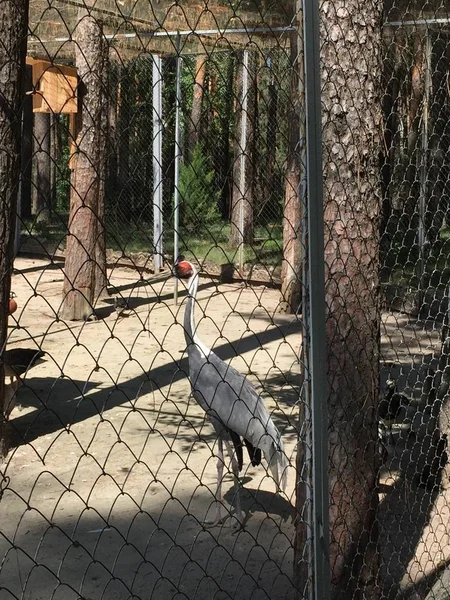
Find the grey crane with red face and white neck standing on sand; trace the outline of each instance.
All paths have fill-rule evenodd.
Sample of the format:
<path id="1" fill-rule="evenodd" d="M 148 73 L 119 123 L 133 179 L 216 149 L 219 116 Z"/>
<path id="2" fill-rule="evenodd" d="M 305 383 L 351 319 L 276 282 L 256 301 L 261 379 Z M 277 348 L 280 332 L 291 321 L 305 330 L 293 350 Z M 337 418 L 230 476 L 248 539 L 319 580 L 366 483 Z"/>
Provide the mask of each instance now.
<path id="1" fill-rule="evenodd" d="M 198 337 L 194 320 L 198 287 L 198 273 L 195 267 L 180 256 L 174 265 L 174 274 L 178 279 L 187 281 L 188 287 L 184 335 L 192 395 L 208 415 L 218 437 L 216 516 L 208 525 L 218 525 L 227 518 L 221 515 L 225 444 L 234 475 L 236 525 L 242 526 L 244 519 L 239 497 L 239 471 L 243 464 L 242 440 L 253 466 L 260 464 L 261 453 L 264 454 L 277 491 L 285 490 L 287 483 L 288 461 L 283 440 L 263 399 L 251 383 L 207 348 Z"/>

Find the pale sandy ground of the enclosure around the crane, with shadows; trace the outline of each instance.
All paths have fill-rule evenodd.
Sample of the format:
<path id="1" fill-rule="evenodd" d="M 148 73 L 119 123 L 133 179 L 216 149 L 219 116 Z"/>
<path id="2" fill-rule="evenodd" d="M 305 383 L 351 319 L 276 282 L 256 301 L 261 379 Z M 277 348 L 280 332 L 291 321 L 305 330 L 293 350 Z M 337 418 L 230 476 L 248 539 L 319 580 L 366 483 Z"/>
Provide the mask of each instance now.
<path id="1" fill-rule="evenodd" d="M 116 319 L 56 317 L 63 275 L 19 258 L 9 347 L 42 347 L 11 414 L 0 482 L 0 596 L 23 600 L 293 597 L 294 469 L 278 496 L 264 468 L 245 465 L 245 530 L 205 529 L 212 516 L 216 441 L 190 398 L 173 281 L 140 285 L 110 273 L 129 300 Z M 201 280 L 203 341 L 259 390 L 294 464 L 300 327 L 276 313 L 278 292 Z M 180 298 L 183 299 L 184 296 Z M 224 481 L 225 505 L 233 481 Z"/>

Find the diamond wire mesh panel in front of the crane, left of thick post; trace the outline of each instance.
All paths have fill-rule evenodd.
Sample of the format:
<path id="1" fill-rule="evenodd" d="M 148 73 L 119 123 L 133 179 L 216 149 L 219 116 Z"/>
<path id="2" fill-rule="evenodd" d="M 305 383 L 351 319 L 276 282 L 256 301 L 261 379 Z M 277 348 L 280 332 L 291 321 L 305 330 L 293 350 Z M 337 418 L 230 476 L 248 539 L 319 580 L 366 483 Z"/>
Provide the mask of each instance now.
<path id="1" fill-rule="evenodd" d="M 169 9 L 168 29 L 161 23 L 162 35 L 153 36 L 159 13 L 147 23 L 148 4 L 134 3 L 132 18 L 129 5 L 122 12 L 118 4 L 97 3 L 92 14 L 89 3 L 30 6 L 34 62 L 23 101 L 21 231 L 11 279 L 18 308 L 9 316 L 6 349 L 45 355 L 21 373 L 17 390 L 5 370 L 10 451 L 1 470 L 0 589 L 33 600 L 293 598 L 301 335 L 298 315 L 279 314 L 277 289 L 292 104 L 289 29 L 271 31 L 277 21 L 270 13 L 265 22 L 249 10 L 242 19 L 251 16 L 253 24 L 229 23 L 242 34 L 192 33 L 180 41 L 170 35 L 170 18 L 189 21 L 189 11 L 186 17 L 181 7 Z M 210 12 L 202 14 L 216 30 L 220 11 L 212 22 Z M 277 15 L 283 21 L 283 10 Z M 245 31 L 258 25 L 264 35 Z M 265 459 L 252 466 L 244 455 L 240 496 L 248 519 L 237 531 L 228 527 L 232 519 L 204 525 L 215 514 L 220 447 L 188 380 L 182 282 L 179 303 L 173 301 L 177 43 L 179 250 L 202 274 L 198 335 L 262 394 L 287 461 L 288 485 L 276 494 Z M 248 151 L 236 117 L 243 113 L 244 51 L 251 54 L 247 131 L 253 128 L 254 141 L 240 179 L 246 190 L 233 191 L 234 163 Z M 163 83 L 155 165 L 156 54 Z M 48 62 L 36 82 L 39 60 Z M 78 68 L 81 114 L 51 106 L 33 113 L 37 95 L 51 102 L 45 77 L 56 68 L 68 84 L 68 65 Z M 256 163 L 264 166 L 260 174 Z M 156 172 L 161 271 L 153 263 Z M 231 199 L 250 198 L 247 188 L 253 222 L 239 271 Z M 223 268 L 234 262 L 237 281 Z M 242 283 L 254 272 L 256 285 Z M 8 360 L 29 357 L 5 354 Z M 236 499 L 227 454 L 223 466 L 229 517 Z"/>

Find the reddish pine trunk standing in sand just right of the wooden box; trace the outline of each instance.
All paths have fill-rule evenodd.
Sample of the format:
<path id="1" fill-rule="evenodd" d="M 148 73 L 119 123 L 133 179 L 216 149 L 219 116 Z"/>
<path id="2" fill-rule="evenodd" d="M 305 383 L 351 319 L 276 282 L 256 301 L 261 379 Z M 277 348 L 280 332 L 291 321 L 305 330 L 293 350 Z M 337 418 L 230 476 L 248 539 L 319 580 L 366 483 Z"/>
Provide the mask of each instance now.
<path id="1" fill-rule="evenodd" d="M 101 24 L 81 9 L 76 29 L 76 65 L 82 95 L 81 129 L 71 177 L 61 316 L 92 316 L 106 287 L 104 190 L 107 131 L 107 46 Z"/>

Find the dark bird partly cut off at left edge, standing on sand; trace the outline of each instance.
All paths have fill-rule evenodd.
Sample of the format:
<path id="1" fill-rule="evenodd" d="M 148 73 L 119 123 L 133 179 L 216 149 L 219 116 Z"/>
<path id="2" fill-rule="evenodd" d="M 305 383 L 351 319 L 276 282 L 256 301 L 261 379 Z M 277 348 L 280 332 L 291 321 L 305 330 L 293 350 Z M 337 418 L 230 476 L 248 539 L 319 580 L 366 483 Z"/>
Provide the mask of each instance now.
<path id="1" fill-rule="evenodd" d="M 3 353 L 5 377 L 10 378 L 10 385 L 5 385 L 4 415 L 6 418 L 15 406 L 20 380 L 30 369 L 43 362 L 45 354 L 46 352 L 36 348 L 11 348 Z"/>

